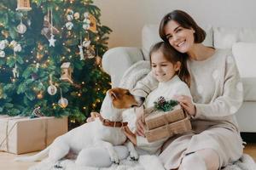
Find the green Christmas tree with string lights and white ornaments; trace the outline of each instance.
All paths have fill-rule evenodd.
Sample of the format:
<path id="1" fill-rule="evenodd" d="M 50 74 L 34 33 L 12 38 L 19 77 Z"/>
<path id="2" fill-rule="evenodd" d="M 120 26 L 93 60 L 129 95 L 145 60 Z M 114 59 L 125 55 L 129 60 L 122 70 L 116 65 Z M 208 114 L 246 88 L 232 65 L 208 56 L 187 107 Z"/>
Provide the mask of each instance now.
<path id="1" fill-rule="evenodd" d="M 91 0 L 1 0 L 0 113 L 64 116 L 99 111 L 110 80 L 102 54 L 111 30 Z"/>

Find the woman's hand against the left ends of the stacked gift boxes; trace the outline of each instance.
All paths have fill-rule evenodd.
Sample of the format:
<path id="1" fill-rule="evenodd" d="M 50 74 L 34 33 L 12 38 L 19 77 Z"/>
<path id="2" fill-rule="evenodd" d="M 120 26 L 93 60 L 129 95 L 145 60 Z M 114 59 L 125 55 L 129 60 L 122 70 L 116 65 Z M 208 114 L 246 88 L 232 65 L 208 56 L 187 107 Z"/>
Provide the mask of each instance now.
<path id="1" fill-rule="evenodd" d="M 139 136 L 145 136 L 144 134 L 144 126 L 145 126 L 145 122 L 143 120 L 143 115 L 144 115 L 144 107 L 136 107 L 135 108 L 135 113 L 136 113 L 136 133 Z"/>

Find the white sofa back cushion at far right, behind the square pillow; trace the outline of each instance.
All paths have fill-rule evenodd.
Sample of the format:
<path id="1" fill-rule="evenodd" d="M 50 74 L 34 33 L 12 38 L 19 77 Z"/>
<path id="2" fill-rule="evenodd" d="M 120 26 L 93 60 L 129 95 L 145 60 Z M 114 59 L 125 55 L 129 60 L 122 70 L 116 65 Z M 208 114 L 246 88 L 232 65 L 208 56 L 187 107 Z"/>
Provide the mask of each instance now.
<path id="1" fill-rule="evenodd" d="M 232 48 L 235 42 L 256 42 L 256 28 L 213 27 L 213 46 Z"/>

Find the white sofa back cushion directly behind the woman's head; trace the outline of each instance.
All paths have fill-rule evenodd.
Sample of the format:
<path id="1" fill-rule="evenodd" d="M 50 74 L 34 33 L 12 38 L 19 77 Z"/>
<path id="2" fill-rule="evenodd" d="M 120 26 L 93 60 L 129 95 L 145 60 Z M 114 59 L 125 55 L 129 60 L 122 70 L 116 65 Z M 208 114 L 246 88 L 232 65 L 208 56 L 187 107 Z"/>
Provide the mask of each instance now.
<path id="1" fill-rule="evenodd" d="M 202 28 L 207 32 L 207 37 L 203 44 L 206 46 L 213 47 L 212 40 L 212 26 L 202 26 Z M 143 55 L 144 59 L 149 60 L 149 50 L 151 46 L 156 43 L 162 41 L 159 36 L 159 26 L 158 25 L 145 25 L 143 26 L 142 32 L 142 43 L 143 43 Z"/>

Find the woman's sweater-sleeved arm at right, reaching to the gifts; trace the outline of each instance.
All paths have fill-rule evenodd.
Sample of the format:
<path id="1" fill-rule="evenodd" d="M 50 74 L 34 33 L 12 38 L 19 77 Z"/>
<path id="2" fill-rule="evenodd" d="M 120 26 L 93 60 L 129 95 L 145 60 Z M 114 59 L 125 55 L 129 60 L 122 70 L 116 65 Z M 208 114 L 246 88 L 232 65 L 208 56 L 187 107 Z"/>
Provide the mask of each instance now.
<path id="1" fill-rule="evenodd" d="M 230 62 L 230 59 L 233 61 Z M 192 104 L 189 99 L 183 99 L 188 110 L 195 109 L 194 118 L 222 120 L 225 116 L 234 115 L 241 107 L 243 90 L 236 62 L 233 57 L 226 59 L 223 94 L 210 104 Z M 219 88 L 219 87 L 217 87 Z"/>

